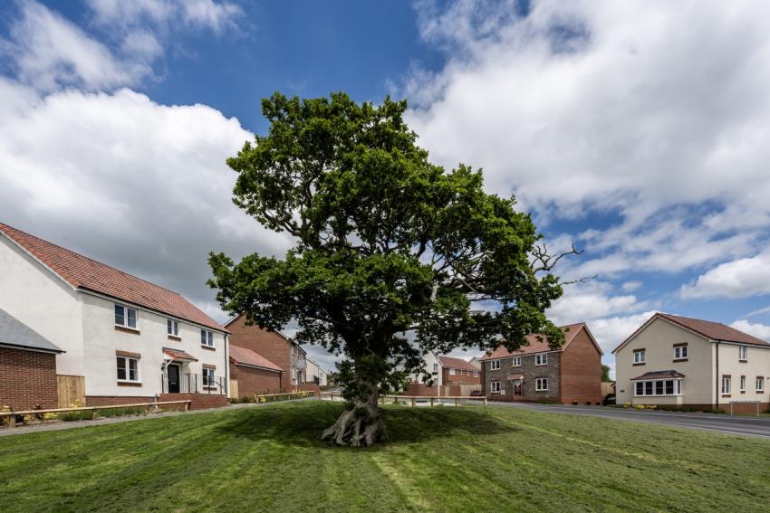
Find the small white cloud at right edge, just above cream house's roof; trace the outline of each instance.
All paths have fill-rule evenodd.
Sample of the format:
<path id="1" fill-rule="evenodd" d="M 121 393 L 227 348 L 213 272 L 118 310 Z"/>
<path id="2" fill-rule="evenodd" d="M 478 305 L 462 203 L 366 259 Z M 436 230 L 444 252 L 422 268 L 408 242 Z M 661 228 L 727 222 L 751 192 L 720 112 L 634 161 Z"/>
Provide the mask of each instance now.
<path id="1" fill-rule="evenodd" d="M 770 252 L 717 265 L 680 290 L 685 299 L 735 299 L 762 294 L 770 294 Z"/>

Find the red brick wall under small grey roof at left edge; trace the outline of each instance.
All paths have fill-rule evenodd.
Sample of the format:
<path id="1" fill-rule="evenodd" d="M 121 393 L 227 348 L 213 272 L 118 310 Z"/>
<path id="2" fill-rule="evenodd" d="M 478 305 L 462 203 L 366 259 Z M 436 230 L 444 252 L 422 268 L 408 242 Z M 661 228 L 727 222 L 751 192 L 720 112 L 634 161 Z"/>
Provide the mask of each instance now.
<path id="1" fill-rule="evenodd" d="M 0 347 L 0 406 L 56 408 L 56 355 Z"/>

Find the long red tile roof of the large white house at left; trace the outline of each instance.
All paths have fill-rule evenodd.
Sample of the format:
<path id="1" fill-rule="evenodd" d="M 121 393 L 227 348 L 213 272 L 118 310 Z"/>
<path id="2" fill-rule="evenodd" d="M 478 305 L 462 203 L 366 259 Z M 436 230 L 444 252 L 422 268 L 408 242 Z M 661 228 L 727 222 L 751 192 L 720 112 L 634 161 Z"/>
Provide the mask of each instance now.
<path id="1" fill-rule="evenodd" d="M 118 271 L 99 261 L 64 249 L 0 223 L 0 233 L 24 248 L 75 289 L 92 290 L 114 299 L 157 310 L 206 328 L 226 331 L 177 292 Z"/>

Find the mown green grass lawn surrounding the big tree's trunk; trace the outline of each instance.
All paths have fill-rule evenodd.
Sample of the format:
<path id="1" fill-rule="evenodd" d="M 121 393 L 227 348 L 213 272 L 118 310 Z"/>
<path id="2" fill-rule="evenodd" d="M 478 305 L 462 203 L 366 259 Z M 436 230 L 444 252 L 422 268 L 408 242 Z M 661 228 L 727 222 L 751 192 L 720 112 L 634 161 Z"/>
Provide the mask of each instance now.
<path id="1" fill-rule="evenodd" d="M 770 442 L 487 406 L 386 408 L 318 441 L 303 401 L 0 437 L 2 511 L 766 511 Z"/>

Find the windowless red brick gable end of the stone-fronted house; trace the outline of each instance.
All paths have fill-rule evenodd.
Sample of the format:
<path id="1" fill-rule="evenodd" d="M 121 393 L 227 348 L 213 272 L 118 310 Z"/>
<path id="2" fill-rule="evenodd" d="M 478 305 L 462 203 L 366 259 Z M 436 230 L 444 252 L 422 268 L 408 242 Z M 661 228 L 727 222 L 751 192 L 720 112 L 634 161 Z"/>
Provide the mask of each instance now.
<path id="1" fill-rule="evenodd" d="M 562 403 L 602 404 L 602 356 L 585 329 L 562 352 Z"/>

